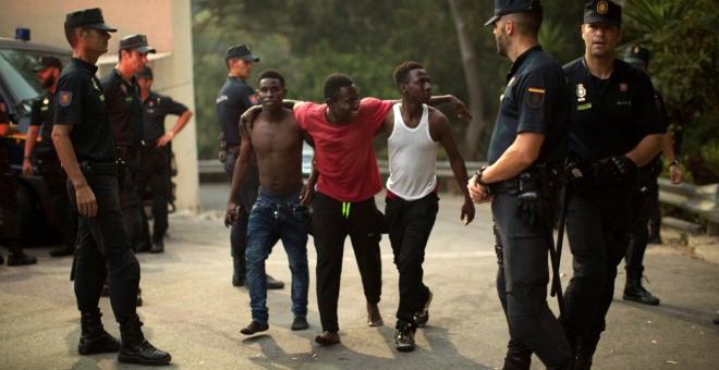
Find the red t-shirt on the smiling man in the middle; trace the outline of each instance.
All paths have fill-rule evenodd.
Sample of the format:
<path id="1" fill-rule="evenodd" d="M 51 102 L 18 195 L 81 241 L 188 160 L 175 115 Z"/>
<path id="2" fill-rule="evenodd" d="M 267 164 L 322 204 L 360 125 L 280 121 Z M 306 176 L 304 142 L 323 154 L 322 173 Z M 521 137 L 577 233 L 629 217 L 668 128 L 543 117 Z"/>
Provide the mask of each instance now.
<path id="1" fill-rule="evenodd" d="M 371 139 L 382 126 L 392 101 L 365 98 L 354 122 L 331 124 L 327 104 L 305 102 L 296 107 L 297 124 L 315 139 L 317 190 L 339 201 L 362 201 L 382 189 Z"/>

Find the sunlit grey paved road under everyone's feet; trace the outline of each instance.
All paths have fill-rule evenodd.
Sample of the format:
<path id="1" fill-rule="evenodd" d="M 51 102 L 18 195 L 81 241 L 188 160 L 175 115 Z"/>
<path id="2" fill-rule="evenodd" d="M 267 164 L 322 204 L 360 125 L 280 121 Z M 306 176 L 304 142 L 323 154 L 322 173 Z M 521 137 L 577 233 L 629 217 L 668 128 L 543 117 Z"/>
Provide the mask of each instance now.
<path id="1" fill-rule="evenodd" d="M 478 208 L 468 226 L 459 221 L 461 199 L 442 195 L 440 213 L 427 248 L 425 281 L 435 292 L 430 320 L 417 332 L 418 348 L 401 354 L 393 346 L 393 311 L 398 274 L 389 242 L 382 239 L 383 295 L 380 310 L 387 326 L 367 328 L 360 275 L 345 248 L 340 295 L 342 344 L 318 346 L 320 331 L 310 274 L 310 329 L 290 331 L 290 292 L 269 294 L 270 329 L 243 336 L 249 323 L 247 292 L 230 284 L 232 263 L 228 231 L 221 224 L 227 185 L 203 186 L 205 211 L 170 218 L 167 251 L 141 254 L 145 305 L 138 313 L 146 336 L 172 354 L 182 369 L 495 369 L 500 368 L 508 340 L 507 323 L 495 291 L 496 261 L 491 217 Z M 383 208 L 378 197 L 380 208 Z M 677 234 L 665 233 L 666 242 Z M 595 369 L 711 369 L 719 363 L 717 238 L 697 238 L 696 247 L 670 243 L 651 246 L 646 256 L 649 289 L 662 300 L 646 307 L 621 299 L 620 270 L 608 330 L 595 356 Z M 694 242 L 693 242 L 694 243 Z M 0 369 L 115 369 L 113 355 L 77 356 L 78 313 L 68 281 L 69 258 L 52 259 L 49 247 L 31 248 L 38 264 L 0 267 Z M 309 262 L 316 256 L 309 243 Z M 0 252 L 7 256 L 7 249 Z M 289 282 L 287 257 L 277 248 L 268 272 Z M 571 275 L 564 254 L 562 284 Z M 106 329 L 119 335 L 107 298 L 100 303 Z M 557 311 L 555 300 L 550 306 Z M 538 360 L 534 369 L 543 369 Z"/>

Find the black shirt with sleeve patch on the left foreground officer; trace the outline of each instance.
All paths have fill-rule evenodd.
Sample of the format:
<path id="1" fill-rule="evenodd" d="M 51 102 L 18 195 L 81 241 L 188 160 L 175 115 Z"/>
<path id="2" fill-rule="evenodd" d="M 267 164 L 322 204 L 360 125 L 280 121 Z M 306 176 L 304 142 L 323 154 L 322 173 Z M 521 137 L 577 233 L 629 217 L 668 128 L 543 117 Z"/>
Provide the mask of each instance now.
<path id="1" fill-rule="evenodd" d="M 78 161 L 115 160 L 114 136 L 97 66 L 73 58 L 56 89 L 54 124 L 74 124 L 70 140 Z"/>

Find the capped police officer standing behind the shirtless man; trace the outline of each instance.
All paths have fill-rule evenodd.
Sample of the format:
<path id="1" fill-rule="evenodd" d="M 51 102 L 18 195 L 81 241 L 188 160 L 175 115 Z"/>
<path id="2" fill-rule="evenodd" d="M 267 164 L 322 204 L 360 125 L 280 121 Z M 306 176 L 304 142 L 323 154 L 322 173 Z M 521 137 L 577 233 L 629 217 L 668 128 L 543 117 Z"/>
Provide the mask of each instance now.
<path id="1" fill-rule="evenodd" d="M 235 45 L 228 48 L 224 54 L 229 73 L 228 79 L 217 94 L 217 115 L 220 119 L 222 135 L 224 136 L 224 148 L 227 152 L 220 155 L 220 160 L 224 163 L 224 172 L 232 181 L 234 163 L 240 156 L 240 116 L 248 108 L 259 103 L 259 98 L 255 90 L 245 82 L 252 75 L 254 62 L 259 62 L 259 57 L 252 53 L 248 45 Z M 247 221 L 252 205 L 257 199 L 259 189 L 259 173 L 257 171 L 257 160 L 253 157 L 249 165 L 249 172 L 245 183 L 240 192 L 237 201 L 242 211 L 239 212 L 239 220 L 232 225 L 230 231 L 230 248 L 233 261 L 232 285 L 245 285 L 245 274 L 247 272 L 247 260 L 245 249 L 247 246 Z M 267 275 L 268 289 L 281 289 L 284 283 Z"/>

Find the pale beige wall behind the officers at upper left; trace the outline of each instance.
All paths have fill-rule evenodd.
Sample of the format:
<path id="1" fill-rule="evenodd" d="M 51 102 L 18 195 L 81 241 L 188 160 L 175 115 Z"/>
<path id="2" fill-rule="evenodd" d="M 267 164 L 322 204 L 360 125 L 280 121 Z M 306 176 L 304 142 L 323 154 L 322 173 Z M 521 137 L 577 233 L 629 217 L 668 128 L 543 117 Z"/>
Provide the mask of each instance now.
<path id="1" fill-rule="evenodd" d="M 106 23 L 118 28 L 108 53 L 98 61 L 98 74 L 114 67 L 121 38 L 145 34 L 157 50 L 156 54 L 149 54 L 149 66 L 155 71 L 153 89 L 195 111 L 190 0 L 0 0 L 0 36 L 12 38 L 16 27 L 31 28 L 32 41 L 70 49 L 63 32 L 65 14 L 98 7 L 102 8 Z M 176 116 L 168 116 L 166 128 L 172 128 L 175 122 Z M 179 169 L 174 178 L 176 206 L 192 211 L 199 209 L 195 127 L 193 118 L 172 144 Z"/>

